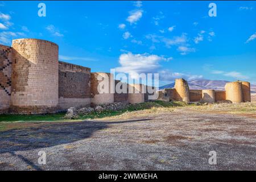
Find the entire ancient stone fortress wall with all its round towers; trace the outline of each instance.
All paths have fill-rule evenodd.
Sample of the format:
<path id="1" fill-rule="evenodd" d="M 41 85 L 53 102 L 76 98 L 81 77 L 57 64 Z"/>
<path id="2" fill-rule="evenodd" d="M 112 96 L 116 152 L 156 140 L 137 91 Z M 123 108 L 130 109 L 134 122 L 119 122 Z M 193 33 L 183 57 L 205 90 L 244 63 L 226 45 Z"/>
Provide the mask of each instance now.
<path id="1" fill-rule="evenodd" d="M 90 68 L 59 61 L 58 53 L 57 44 L 39 39 L 16 39 L 12 47 L 0 45 L 0 114 L 54 113 L 113 102 L 137 104 L 150 101 L 149 96 L 155 94 L 143 84 L 127 84 L 127 93 L 118 93 L 115 86 L 121 82 L 112 74 L 90 73 Z M 175 88 L 159 90 L 156 100 L 250 102 L 250 83 L 228 82 L 225 91 L 189 90 L 187 81 L 180 78 Z"/>

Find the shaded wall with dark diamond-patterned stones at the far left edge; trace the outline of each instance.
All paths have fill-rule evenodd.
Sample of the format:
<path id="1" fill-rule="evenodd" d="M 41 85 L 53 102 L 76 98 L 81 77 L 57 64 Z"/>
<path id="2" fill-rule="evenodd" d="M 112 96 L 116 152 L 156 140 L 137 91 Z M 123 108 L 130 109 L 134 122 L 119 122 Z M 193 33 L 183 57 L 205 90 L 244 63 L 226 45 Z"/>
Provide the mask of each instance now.
<path id="1" fill-rule="evenodd" d="M 10 107 L 12 61 L 11 47 L 0 45 L 0 114 Z"/>

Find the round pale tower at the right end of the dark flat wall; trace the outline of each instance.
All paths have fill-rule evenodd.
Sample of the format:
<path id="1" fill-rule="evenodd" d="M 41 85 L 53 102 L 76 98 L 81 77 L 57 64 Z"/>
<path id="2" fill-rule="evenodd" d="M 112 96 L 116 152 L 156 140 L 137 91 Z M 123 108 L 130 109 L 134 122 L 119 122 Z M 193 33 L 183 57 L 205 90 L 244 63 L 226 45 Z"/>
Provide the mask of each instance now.
<path id="1" fill-rule="evenodd" d="M 101 82 L 108 85 L 108 88 L 101 87 Z M 100 92 L 98 92 L 98 86 Z M 99 72 L 91 73 L 90 88 L 92 105 L 110 104 L 114 102 L 114 78 L 112 74 Z M 106 90 L 106 92 L 104 92 L 104 90 Z"/>

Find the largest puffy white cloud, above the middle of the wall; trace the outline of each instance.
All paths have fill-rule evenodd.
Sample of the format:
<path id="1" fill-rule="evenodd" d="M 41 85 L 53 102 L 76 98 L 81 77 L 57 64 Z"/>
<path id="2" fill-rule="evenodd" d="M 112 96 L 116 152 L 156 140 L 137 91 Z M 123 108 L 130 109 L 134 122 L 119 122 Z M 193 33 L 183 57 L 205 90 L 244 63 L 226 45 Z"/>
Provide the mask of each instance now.
<path id="1" fill-rule="evenodd" d="M 148 53 L 133 54 L 128 52 L 119 56 L 121 67 L 117 67 L 115 70 L 119 73 L 129 73 L 132 78 L 138 78 L 138 74 L 141 73 L 156 73 L 157 69 L 161 67 L 159 62 L 168 60 L 172 60 L 172 57 L 165 58 Z"/>

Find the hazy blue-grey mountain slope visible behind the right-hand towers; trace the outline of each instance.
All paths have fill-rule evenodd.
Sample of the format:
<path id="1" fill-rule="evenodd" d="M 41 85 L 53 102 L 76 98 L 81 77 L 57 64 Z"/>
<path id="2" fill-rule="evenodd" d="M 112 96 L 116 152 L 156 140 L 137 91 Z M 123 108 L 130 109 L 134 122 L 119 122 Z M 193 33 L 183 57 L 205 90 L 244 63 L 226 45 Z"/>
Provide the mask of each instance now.
<path id="1" fill-rule="evenodd" d="M 224 80 L 191 80 L 188 81 L 189 89 L 191 90 L 202 90 L 202 89 L 214 89 L 214 90 L 224 90 L 225 84 L 229 81 Z M 175 82 L 160 86 L 159 90 L 165 88 L 174 88 Z M 256 93 L 256 85 L 251 85 L 251 93 Z"/>

